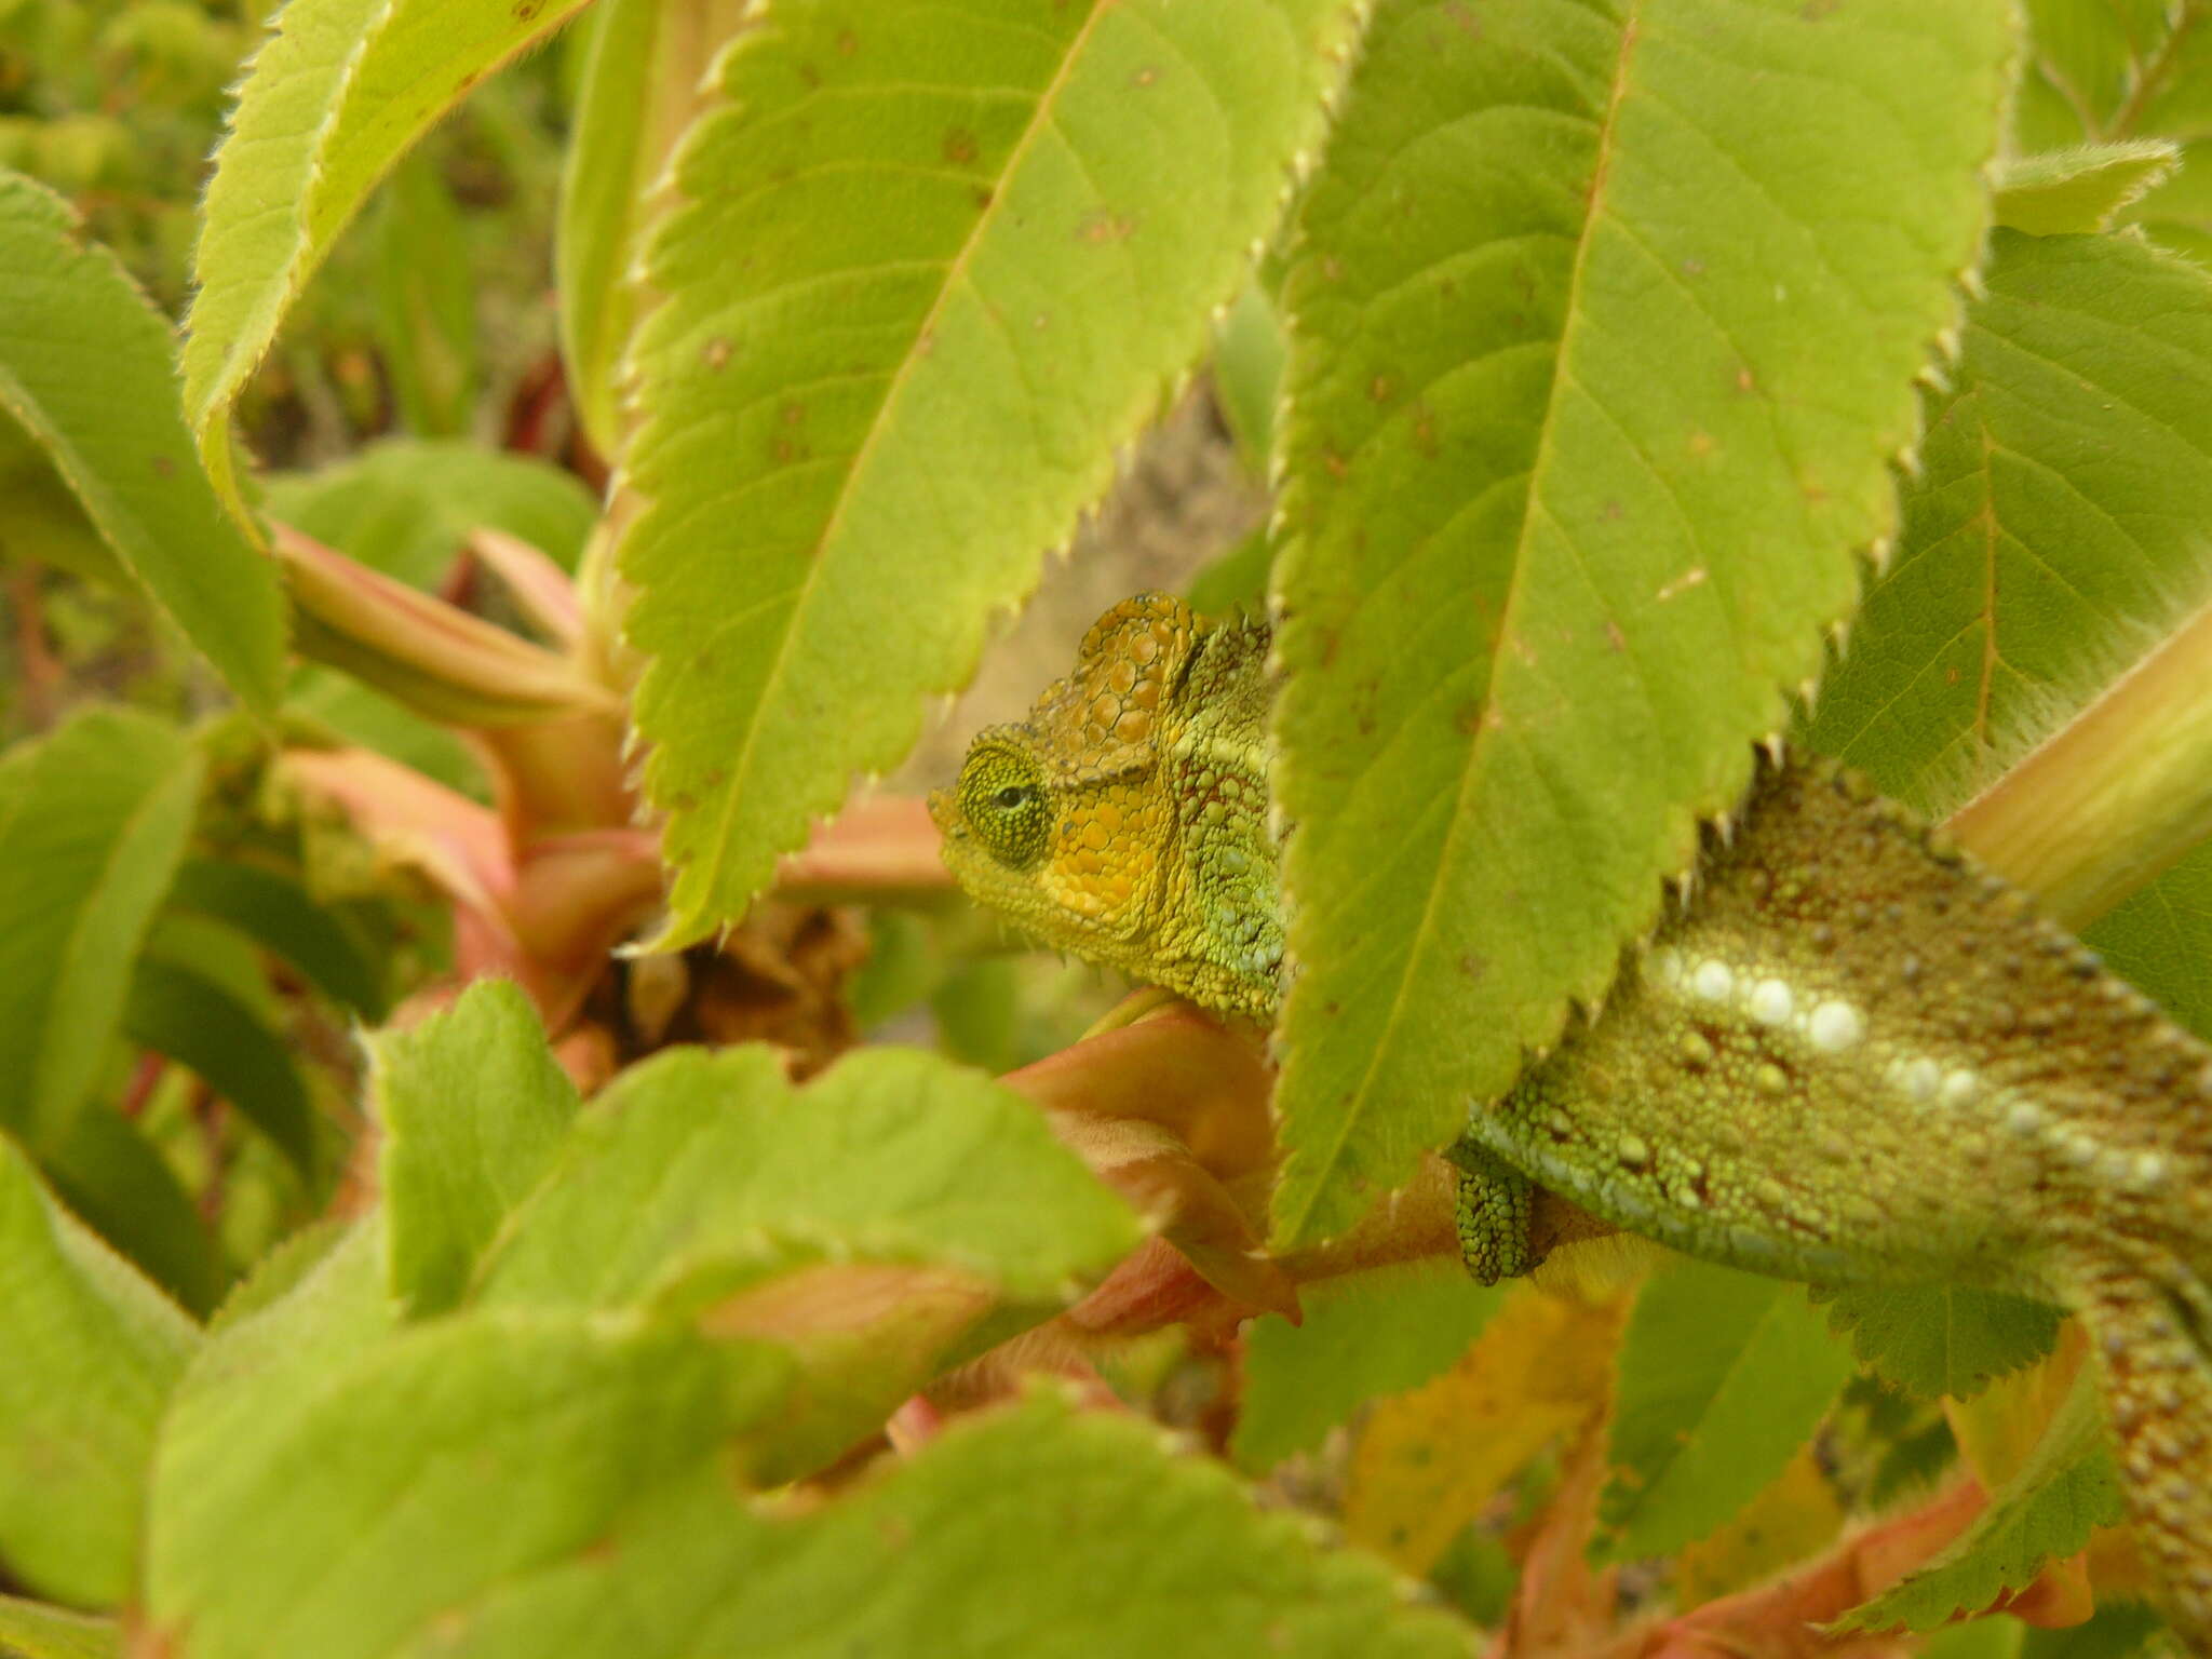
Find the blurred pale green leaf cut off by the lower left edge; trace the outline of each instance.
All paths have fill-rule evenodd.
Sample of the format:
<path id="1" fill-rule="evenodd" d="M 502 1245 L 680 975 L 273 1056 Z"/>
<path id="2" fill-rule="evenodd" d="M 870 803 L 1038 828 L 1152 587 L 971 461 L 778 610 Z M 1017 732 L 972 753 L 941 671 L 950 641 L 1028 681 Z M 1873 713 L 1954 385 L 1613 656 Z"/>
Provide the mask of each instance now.
<path id="1" fill-rule="evenodd" d="M 0 1323 L 0 1564 L 40 1595 L 115 1606 L 137 1575 L 155 1422 L 199 1332 L 7 1139 Z"/>

